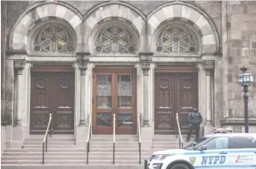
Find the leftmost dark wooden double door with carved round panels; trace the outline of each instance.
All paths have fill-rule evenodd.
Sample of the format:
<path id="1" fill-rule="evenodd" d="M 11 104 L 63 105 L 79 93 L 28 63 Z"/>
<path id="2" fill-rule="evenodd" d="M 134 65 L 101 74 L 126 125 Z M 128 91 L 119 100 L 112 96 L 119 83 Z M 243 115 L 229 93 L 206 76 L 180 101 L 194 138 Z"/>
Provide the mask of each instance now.
<path id="1" fill-rule="evenodd" d="M 49 114 L 53 133 L 73 133 L 73 72 L 32 72 L 30 133 L 44 133 Z"/>

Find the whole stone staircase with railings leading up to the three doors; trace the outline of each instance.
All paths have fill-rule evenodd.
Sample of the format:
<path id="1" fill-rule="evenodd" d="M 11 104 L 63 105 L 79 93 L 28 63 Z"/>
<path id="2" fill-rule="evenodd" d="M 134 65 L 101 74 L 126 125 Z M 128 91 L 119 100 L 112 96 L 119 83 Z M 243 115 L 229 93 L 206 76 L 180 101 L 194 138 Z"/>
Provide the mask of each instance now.
<path id="1" fill-rule="evenodd" d="M 185 136 L 183 136 L 185 138 Z M 184 140 L 184 139 L 183 139 Z M 193 139 L 191 139 L 193 140 Z M 23 148 L 3 150 L 4 166 L 42 166 L 43 136 L 30 135 L 23 142 Z M 185 143 L 184 146 L 188 145 Z M 142 163 L 139 165 L 138 137 L 136 135 L 116 136 L 115 165 L 140 166 L 155 151 L 178 148 L 178 138 L 156 135 L 152 145 L 142 148 Z M 90 139 L 89 166 L 113 165 L 113 136 L 93 135 Z M 48 137 L 48 152 L 45 153 L 45 166 L 84 166 L 87 165 L 86 146 L 78 146 L 73 135 L 53 135 Z"/>

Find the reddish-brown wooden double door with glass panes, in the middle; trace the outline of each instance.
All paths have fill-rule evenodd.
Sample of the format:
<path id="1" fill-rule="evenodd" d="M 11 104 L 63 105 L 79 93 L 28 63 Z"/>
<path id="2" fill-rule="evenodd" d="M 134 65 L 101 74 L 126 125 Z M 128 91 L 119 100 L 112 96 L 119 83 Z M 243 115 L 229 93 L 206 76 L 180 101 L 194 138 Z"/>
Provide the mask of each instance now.
<path id="1" fill-rule="evenodd" d="M 115 122 L 113 122 L 115 115 Z M 93 73 L 93 134 L 136 134 L 136 73 L 100 70 Z"/>

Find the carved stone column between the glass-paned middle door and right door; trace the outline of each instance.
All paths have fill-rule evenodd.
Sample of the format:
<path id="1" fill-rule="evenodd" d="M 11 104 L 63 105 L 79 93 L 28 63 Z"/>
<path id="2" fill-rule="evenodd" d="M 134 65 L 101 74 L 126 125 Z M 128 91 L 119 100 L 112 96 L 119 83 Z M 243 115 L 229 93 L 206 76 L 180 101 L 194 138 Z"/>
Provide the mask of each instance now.
<path id="1" fill-rule="evenodd" d="M 153 52 L 140 52 L 141 67 L 143 69 L 143 127 L 149 126 L 148 115 L 148 71 L 152 61 Z"/>

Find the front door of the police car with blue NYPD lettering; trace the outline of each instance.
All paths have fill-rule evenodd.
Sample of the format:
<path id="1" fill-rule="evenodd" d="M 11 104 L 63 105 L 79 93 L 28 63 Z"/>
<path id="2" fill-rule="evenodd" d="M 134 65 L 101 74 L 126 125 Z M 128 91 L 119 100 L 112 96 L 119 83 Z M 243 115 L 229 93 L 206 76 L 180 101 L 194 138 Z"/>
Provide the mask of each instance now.
<path id="1" fill-rule="evenodd" d="M 198 148 L 195 168 L 229 169 L 228 137 L 214 137 Z"/>

